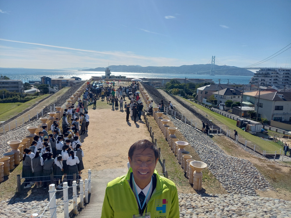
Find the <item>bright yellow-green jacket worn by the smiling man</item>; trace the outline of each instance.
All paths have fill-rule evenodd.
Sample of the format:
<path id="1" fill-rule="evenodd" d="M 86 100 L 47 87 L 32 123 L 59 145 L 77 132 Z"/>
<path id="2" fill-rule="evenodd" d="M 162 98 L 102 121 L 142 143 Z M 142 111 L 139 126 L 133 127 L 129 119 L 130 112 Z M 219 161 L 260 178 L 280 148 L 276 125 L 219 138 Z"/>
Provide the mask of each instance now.
<path id="1" fill-rule="evenodd" d="M 136 196 L 132 190 L 132 169 L 129 168 L 127 175 L 118 177 L 107 184 L 101 218 L 132 218 L 140 214 Z M 150 212 L 151 218 L 178 218 L 179 200 L 178 192 L 171 180 L 159 176 L 154 171 L 153 178 L 156 178 L 153 185 L 152 196 L 144 210 Z"/>

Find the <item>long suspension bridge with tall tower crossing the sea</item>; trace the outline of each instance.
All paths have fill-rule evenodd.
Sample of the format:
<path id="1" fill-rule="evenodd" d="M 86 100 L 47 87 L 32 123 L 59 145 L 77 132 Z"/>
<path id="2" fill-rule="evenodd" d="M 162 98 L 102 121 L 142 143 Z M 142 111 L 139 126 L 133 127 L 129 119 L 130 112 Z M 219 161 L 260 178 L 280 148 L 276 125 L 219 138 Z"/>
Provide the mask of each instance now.
<path id="1" fill-rule="evenodd" d="M 210 72 L 210 75 L 214 75 L 214 72 L 223 71 L 223 70 L 244 70 L 244 69 L 245 70 L 260 70 L 260 69 L 281 69 L 281 68 L 291 69 L 291 43 L 285 46 L 280 51 L 277 51 L 273 55 L 265 58 L 264 60 L 261 60 L 259 62 L 256 62 L 254 64 L 251 64 L 245 67 L 232 67 L 228 65 L 223 65 L 218 60 L 217 62 L 219 62 L 221 66 L 215 65 L 215 56 L 212 56 L 212 58 L 208 61 L 207 64 L 210 64 L 210 61 L 211 61 L 211 68 L 209 70 L 206 70 L 205 68 L 203 68 L 197 73 Z M 219 68 L 214 69 L 215 66 Z"/>

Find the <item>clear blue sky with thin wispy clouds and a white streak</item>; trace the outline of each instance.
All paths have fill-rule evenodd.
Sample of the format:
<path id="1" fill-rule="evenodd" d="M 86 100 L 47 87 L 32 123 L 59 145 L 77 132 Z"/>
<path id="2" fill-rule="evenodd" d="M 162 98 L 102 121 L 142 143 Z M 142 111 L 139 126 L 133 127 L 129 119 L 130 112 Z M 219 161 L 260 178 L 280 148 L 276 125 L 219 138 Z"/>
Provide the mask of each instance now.
<path id="1" fill-rule="evenodd" d="M 290 8 L 289 0 L 1 0 L 0 67 L 180 66 L 212 55 L 244 67 L 291 42 Z"/>

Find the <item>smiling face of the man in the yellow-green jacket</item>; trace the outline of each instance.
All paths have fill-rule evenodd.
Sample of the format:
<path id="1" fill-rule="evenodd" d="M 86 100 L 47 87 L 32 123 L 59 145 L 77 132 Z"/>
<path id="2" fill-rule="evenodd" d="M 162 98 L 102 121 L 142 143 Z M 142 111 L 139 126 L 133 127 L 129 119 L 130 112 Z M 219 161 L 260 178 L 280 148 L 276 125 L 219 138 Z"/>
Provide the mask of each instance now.
<path id="1" fill-rule="evenodd" d="M 150 181 L 158 161 L 158 158 L 155 160 L 154 151 L 149 148 L 137 149 L 134 151 L 132 159 L 129 157 L 128 159 L 136 182 Z"/>

